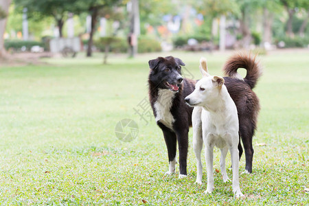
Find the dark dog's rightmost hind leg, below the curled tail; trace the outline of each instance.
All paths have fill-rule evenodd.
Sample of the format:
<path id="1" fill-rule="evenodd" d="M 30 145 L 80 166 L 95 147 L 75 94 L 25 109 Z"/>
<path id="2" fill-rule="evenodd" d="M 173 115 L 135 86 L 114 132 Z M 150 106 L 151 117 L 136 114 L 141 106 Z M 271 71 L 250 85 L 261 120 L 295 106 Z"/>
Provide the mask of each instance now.
<path id="1" fill-rule="evenodd" d="M 254 128 L 252 124 L 240 124 L 240 137 L 242 139 L 242 144 L 244 145 L 244 154 L 246 155 L 246 168 L 245 173 L 250 174 L 252 172 L 252 161 L 253 161 L 253 146 L 252 138 L 254 133 Z"/>

